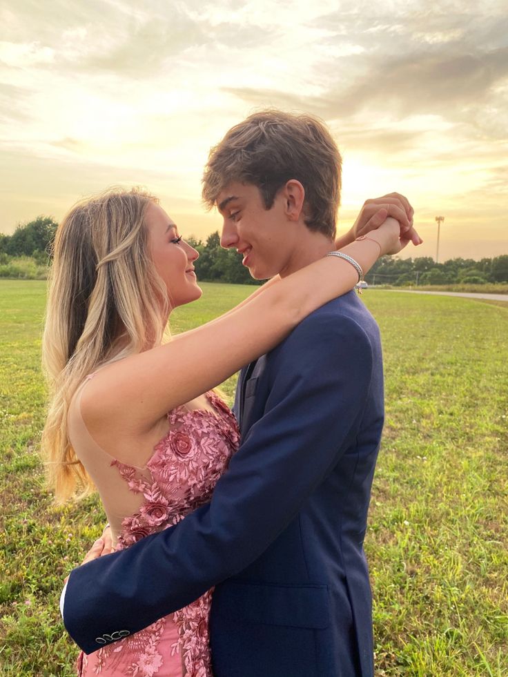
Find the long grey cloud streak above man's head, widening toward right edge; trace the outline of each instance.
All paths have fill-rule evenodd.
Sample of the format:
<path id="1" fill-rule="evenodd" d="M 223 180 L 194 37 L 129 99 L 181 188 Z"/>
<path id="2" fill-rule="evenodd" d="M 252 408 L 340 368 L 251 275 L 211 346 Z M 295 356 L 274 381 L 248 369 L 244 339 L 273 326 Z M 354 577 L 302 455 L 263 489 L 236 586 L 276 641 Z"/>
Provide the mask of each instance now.
<path id="1" fill-rule="evenodd" d="M 226 88 L 255 106 L 309 108 L 325 119 L 348 119 L 363 110 L 387 112 L 395 119 L 428 113 L 465 119 L 464 109 L 475 108 L 494 87 L 508 77 L 508 48 L 485 54 L 465 53 L 411 55 L 372 64 L 350 87 L 335 81 L 321 96 L 280 90 Z M 453 108 L 451 108 L 453 106 Z M 467 116 L 466 116 L 467 117 Z"/>

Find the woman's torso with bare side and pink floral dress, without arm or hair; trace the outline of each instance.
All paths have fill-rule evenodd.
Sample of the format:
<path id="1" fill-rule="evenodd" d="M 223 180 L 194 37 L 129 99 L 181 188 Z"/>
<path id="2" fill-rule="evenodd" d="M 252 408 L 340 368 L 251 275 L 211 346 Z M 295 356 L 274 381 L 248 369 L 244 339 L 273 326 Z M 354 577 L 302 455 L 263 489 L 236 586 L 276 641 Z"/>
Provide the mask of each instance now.
<path id="1" fill-rule="evenodd" d="M 81 415 L 86 382 L 70 404 L 69 439 L 99 491 L 116 549 L 123 549 L 149 533 L 176 524 L 207 502 L 237 449 L 239 435 L 228 407 L 215 393 L 207 393 L 209 408 L 184 405 L 168 413 L 168 432 L 155 445 L 146 464 L 137 467 L 121 462 L 99 447 L 86 427 Z M 211 675 L 210 604 L 208 591 L 188 607 L 132 637 L 113 645 L 107 644 L 107 638 L 97 638 L 99 644 L 104 642 L 104 648 L 90 656 L 80 655 L 79 674 Z"/>

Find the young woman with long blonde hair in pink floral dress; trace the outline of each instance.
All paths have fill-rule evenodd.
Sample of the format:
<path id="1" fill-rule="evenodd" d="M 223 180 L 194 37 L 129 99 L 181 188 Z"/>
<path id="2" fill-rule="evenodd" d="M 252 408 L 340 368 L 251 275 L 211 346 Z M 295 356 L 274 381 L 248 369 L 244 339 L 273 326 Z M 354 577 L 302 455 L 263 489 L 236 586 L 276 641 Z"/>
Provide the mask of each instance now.
<path id="1" fill-rule="evenodd" d="M 400 247 L 398 224 L 388 219 L 343 251 L 366 271 Z M 57 500 L 97 488 L 117 549 L 209 500 L 239 441 L 231 411 L 211 389 L 358 281 L 351 262 L 324 257 L 164 341 L 170 311 L 202 294 L 197 257 L 157 199 L 138 190 L 78 204 L 57 231 L 43 338 L 51 386 L 43 448 Z M 81 654 L 79 674 L 210 676 L 211 593 Z"/>

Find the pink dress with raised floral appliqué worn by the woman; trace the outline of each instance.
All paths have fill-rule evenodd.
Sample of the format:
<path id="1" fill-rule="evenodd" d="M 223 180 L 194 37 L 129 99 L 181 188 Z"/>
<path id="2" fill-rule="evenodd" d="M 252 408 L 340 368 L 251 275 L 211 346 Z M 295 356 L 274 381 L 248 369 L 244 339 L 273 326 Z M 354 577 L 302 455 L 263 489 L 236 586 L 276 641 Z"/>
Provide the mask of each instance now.
<path id="1" fill-rule="evenodd" d="M 121 522 L 117 550 L 177 524 L 210 500 L 240 437 L 231 410 L 215 393 L 207 397 L 213 411 L 177 407 L 168 413 L 170 429 L 146 467 L 110 460 L 129 491 L 143 499 L 141 507 Z M 78 675 L 212 677 L 208 641 L 212 592 L 94 654 L 81 652 Z"/>

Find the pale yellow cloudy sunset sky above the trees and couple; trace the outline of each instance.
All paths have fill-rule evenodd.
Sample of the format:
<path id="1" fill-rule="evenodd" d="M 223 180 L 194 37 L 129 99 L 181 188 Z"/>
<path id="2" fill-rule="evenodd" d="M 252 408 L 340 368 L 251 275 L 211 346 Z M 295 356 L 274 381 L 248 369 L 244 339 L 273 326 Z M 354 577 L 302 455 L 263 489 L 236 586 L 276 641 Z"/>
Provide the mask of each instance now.
<path id="1" fill-rule="evenodd" d="M 155 193 L 184 235 L 208 151 L 255 110 L 326 121 L 339 233 L 407 195 L 424 244 L 508 254 L 505 0 L 0 0 L 0 232 L 108 186 Z"/>

